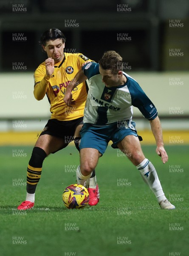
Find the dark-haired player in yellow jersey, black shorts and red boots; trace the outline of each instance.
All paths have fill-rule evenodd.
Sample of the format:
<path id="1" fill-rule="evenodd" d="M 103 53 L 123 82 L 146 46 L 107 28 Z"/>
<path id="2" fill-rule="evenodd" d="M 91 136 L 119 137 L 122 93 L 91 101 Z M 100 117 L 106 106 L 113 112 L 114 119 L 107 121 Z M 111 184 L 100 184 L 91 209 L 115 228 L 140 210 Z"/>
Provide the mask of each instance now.
<path id="1" fill-rule="evenodd" d="M 34 96 L 37 100 L 45 94 L 51 104 L 51 119 L 39 135 L 33 148 L 27 170 L 27 195 L 17 209 L 26 210 L 34 207 L 35 190 L 41 177 L 42 163 L 45 157 L 65 148 L 74 140 L 79 150 L 79 131 L 83 125 L 87 87 L 85 82 L 73 91 L 73 106 L 68 107 L 63 101 L 65 88 L 74 78 L 82 65 L 91 61 L 82 53 L 64 52 L 65 36 L 56 28 L 48 29 L 41 36 L 43 50 L 48 58 L 39 65 L 34 73 Z M 89 204 L 99 202 L 99 188 L 93 172 L 89 181 Z"/>

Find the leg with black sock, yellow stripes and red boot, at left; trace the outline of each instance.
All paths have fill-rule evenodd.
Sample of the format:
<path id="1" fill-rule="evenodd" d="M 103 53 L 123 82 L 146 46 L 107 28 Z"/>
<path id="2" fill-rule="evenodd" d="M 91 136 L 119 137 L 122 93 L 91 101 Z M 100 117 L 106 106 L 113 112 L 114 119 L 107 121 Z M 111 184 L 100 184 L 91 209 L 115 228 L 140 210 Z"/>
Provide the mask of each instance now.
<path id="1" fill-rule="evenodd" d="M 41 135 L 31 154 L 27 170 L 26 199 L 17 209 L 26 210 L 34 207 L 35 190 L 41 177 L 42 163 L 50 153 L 58 150 L 64 145 L 64 140 L 48 134 Z"/>

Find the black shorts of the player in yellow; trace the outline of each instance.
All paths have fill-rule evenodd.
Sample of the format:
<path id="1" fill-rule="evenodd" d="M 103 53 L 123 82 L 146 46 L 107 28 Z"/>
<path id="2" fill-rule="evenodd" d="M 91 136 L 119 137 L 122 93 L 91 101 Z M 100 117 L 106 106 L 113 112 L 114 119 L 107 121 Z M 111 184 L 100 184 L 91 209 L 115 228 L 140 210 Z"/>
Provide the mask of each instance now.
<path id="1" fill-rule="evenodd" d="M 71 141 L 74 140 L 74 133 L 78 125 L 83 124 L 83 117 L 71 121 L 59 121 L 57 119 L 49 119 L 41 135 L 48 134 L 65 140 L 65 148 Z M 61 148 L 60 148 L 61 149 Z M 59 150 L 60 150 L 59 149 Z"/>

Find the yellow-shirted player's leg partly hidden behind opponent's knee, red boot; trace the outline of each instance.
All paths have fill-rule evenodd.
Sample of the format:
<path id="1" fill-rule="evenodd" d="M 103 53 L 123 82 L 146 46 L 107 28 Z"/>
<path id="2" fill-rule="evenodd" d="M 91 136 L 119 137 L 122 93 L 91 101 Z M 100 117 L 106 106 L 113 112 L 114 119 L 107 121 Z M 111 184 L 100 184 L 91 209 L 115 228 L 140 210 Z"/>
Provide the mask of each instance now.
<path id="1" fill-rule="evenodd" d="M 76 127 L 76 131 L 75 131 L 75 134 L 74 134 L 74 143 L 76 145 L 76 148 L 78 149 L 78 151 L 80 151 L 79 149 L 79 143 L 80 143 L 80 130 L 82 128 L 83 125 L 78 125 Z M 78 184 L 82 184 L 82 181 L 77 179 L 77 183 Z M 84 184 L 82 184 L 84 185 Z M 87 186 L 88 188 L 88 192 L 89 192 L 89 205 L 96 205 L 99 200 L 100 200 L 100 194 L 99 194 L 99 186 L 96 182 L 96 174 L 95 174 L 95 170 L 93 170 L 93 173 L 91 175 L 90 178 L 88 178 L 86 181 L 85 181 L 85 186 Z M 94 192 L 95 191 L 95 192 Z M 93 196 L 93 194 L 97 194 L 97 199 L 98 199 L 98 202 L 96 202 L 96 197 Z"/>

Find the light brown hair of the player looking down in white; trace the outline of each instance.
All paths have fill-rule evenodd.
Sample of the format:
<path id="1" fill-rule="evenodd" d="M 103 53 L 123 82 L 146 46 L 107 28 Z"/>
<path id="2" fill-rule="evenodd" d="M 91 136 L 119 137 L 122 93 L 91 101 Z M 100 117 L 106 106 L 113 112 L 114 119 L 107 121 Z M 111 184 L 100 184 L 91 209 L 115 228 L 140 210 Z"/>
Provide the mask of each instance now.
<path id="1" fill-rule="evenodd" d="M 104 55 L 99 60 L 99 65 L 104 70 L 111 70 L 113 74 L 123 70 L 122 57 L 115 51 L 104 52 Z"/>

